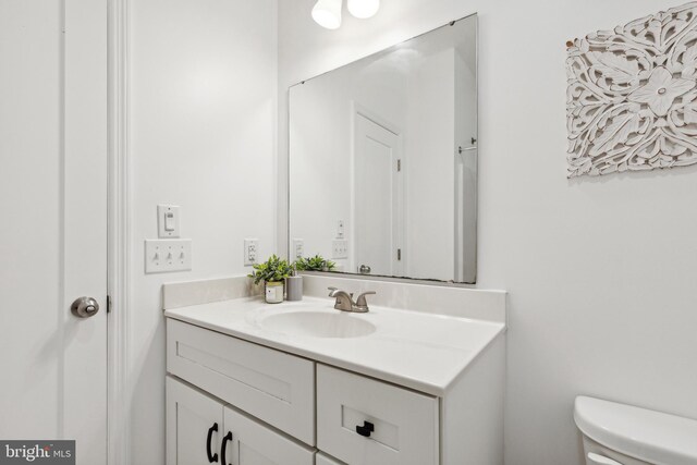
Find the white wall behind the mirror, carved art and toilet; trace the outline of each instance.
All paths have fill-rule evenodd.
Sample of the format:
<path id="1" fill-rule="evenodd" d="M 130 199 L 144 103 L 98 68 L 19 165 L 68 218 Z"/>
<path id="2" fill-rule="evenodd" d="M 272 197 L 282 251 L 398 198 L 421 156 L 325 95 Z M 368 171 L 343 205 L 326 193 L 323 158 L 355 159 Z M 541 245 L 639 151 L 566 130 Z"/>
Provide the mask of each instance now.
<path id="1" fill-rule="evenodd" d="M 279 90 L 479 12 L 479 286 L 510 291 L 506 463 L 580 465 L 580 393 L 697 418 L 697 167 L 565 172 L 566 40 L 681 1 L 381 3 L 330 32 L 311 22 L 314 0 L 280 2 Z"/>

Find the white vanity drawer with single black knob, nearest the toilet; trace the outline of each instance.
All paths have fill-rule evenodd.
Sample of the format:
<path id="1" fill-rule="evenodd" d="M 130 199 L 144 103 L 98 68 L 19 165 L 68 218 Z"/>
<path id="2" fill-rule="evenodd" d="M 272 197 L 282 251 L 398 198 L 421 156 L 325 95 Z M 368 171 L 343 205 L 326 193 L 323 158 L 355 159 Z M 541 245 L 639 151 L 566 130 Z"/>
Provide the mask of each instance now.
<path id="1" fill-rule="evenodd" d="M 317 366 L 317 446 L 348 465 L 437 465 L 438 408 L 436 397 Z M 365 421 L 369 437 L 356 432 Z"/>

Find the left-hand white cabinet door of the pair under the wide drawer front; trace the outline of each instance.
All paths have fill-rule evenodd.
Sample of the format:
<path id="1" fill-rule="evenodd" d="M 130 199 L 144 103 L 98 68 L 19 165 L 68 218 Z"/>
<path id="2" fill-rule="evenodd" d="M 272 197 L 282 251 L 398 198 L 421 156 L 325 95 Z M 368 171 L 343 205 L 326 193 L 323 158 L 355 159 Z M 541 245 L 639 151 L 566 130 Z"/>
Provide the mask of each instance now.
<path id="1" fill-rule="evenodd" d="M 222 431 L 222 404 L 168 376 L 167 464 L 219 464 Z"/>

